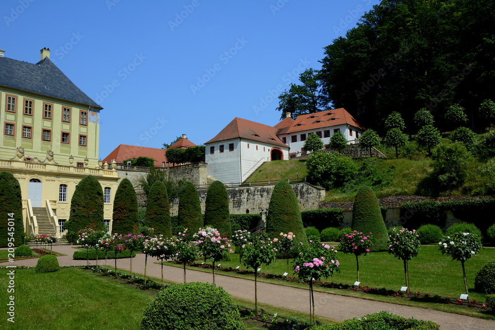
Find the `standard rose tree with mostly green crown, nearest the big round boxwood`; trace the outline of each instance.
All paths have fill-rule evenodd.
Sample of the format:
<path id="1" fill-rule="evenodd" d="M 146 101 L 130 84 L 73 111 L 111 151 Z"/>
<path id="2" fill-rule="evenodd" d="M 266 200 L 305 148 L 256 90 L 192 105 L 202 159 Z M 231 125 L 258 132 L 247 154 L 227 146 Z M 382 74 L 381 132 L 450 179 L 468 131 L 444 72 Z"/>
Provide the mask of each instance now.
<path id="1" fill-rule="evenodd" d="M 243 263 L 247 269 L 254 270 L 254 315 L 258 316 L 258 268 L 265 264 L 270 265 L 276 258 L 276 244 L 264 233 L 251 237 L 251 241 L 244 248 Z"/>

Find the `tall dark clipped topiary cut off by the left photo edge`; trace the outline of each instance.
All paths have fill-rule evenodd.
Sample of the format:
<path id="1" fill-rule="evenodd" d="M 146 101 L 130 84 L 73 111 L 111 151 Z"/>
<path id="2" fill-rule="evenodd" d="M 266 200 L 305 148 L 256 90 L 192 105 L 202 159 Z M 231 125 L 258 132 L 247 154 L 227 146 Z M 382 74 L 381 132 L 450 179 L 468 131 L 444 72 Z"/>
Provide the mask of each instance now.
<path id="1" fill-rule="evenodd" d="M 0 172 L 0 247 L 22 245 L 22 194 L 19 181 L 9 172 Z"/>

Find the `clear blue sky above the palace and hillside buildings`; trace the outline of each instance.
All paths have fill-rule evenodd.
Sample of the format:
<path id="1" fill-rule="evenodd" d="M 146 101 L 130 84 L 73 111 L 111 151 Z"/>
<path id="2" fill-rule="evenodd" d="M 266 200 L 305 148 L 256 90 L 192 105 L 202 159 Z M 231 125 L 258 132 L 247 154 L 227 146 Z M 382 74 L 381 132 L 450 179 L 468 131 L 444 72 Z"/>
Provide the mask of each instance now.
<path id="1" fill-rule="evenodd" d="M 2 0 L 0 48 L 40 49 L 100 113 L 99 157 L 119 144 L 196 144 L 235 117 L 280 118 L 277 96 L 377 0 Z"/>

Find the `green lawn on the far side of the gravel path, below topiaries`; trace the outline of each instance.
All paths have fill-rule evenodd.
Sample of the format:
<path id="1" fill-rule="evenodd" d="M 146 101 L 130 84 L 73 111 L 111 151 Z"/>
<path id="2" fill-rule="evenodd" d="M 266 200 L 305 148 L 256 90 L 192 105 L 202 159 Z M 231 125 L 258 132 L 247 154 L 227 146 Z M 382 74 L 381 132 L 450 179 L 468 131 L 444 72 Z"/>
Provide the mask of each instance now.
<path id="1" fill-rule="evenodd" d="M 353 284 L 356 281 L 355 256 L 341 252 L 337 255 L 341 273 L 334 275 L 327 281 Z M 222 267 L 236 268 L 239 266 L 238 254 L 233 253 L 231 259 L 231 261 L 222 261 Z M 485 294 L 474 291 L 474 279 L 476 272 L 485 263 L 494 259 L 495 249 L 485 248 L 478 255 L 466 261 L 466 277 L 472 299 L 485 301 Z M 201 261 L 197 262 L 201 263 Z M 289 275 L 294 276 L 292 260 L 290 262 L 291 272 Z M 210 264 L 209 261 L 207 263 Z M 246 269 L 245 266 L 241 267 Z M 278 259 L 269 266 L 263 265 L 261 267 L 261 272 L 270 274 L 282 275 L 286 270 L 286 259 Z M 359 281 L 361 285 L 399 290 L 401 286 L 405 285 L 403 262 L 387 252 L 373 252 L 367 256 L 360 256 Z M 464 293 L 461 263 L 442 255 L 436 246 L 421 246 L 418 257 L 409 261 L 409 282 L 412 291 L 422 294 L 428 292 L 431 295 L 439 294 L 458 298 L 460 294 Z"/>

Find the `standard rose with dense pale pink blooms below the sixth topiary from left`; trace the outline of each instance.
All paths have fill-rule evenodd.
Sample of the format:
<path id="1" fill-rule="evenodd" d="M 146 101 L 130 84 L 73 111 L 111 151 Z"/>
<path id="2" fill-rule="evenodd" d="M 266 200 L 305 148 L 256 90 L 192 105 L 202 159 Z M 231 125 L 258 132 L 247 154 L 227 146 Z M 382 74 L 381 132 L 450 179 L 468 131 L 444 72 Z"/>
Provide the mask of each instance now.
<path id="1" fill-rule="evenodd" d="M 229 252 L 234 252 L 230 248 L 229 238 L 221 236 L 215 228 L 206 227 L 199 228 L 198 233 L 193 235 L 193 239 L 196 240 L 203 257 L 211 260 L 213 285 L 215 285 L 215 263 L 225 258 Z"/>

